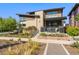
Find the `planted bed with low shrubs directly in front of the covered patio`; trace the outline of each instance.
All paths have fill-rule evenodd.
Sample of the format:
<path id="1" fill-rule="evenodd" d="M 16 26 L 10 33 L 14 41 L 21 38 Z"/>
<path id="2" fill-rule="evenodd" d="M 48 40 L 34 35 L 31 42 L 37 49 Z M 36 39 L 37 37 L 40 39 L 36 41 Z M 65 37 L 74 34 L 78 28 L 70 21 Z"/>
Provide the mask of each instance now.
<path id="1" fill-rule="evenodd" d="M 40 39 L 70 40 L 70 37 L 64 33 L 45 33 L 42 32 L 38 36 Z"/>

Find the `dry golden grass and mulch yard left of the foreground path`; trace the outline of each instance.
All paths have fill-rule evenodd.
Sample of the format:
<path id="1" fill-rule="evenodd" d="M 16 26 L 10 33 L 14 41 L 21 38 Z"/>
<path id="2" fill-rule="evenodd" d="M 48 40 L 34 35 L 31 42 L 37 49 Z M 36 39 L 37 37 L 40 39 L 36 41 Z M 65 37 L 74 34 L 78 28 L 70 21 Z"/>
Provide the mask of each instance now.
<path id="1" fill-rule="evenodd" d="M 44 53 L 44 49 L 45 44 L 31 39 L 28 42 L 0 40 L 1 55 L 39 55 Z"/>

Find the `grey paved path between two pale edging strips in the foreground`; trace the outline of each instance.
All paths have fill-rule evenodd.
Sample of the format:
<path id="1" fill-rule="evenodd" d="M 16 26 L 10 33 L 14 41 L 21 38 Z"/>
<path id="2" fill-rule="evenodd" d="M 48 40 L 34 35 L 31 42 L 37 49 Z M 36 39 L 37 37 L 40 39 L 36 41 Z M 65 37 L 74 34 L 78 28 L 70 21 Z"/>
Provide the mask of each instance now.
<path id="1" fill-rule="evenodd" d="M 47 55 L 67 55 L 60 44 L 48 43 Z"/>

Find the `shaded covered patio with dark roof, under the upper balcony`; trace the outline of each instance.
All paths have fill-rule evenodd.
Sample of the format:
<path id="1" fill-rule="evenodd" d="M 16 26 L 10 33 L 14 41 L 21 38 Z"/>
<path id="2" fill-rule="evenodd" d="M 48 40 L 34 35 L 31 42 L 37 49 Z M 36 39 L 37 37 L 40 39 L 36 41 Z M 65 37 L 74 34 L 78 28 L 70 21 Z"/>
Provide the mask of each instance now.
<path id="1" fill-rule="evenodd" d="M 41 31 L 64 32 L 64 19 L 66 17 L 45 18 L 44 27 L 41 28 Z"/>

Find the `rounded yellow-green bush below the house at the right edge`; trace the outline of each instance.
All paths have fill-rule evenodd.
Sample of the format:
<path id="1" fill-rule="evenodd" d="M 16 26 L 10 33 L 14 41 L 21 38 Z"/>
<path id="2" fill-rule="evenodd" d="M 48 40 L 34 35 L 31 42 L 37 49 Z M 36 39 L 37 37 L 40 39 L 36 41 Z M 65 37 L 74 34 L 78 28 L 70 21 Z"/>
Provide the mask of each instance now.
<path id="1" fill-rule="evenodd" d="M 79 34 L 79 28 L 78 27 L 68 26 L 66 28 L 66 32 L 67 32 L 67 34 L 69 34 L 71 36 L 77 36 Z"/>

